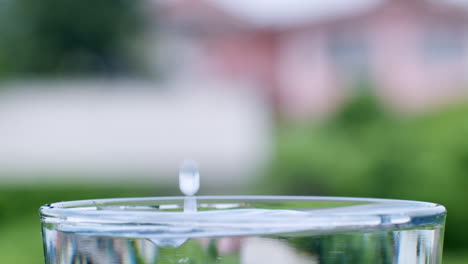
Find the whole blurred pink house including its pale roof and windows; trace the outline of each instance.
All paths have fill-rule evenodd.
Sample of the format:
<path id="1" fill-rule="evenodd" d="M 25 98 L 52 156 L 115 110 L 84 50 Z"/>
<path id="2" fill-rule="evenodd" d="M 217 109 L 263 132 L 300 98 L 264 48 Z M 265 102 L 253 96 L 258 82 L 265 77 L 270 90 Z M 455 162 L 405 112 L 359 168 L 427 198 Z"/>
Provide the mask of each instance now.
<path id="1" fill-rule="evenodd" d="M 155 15 L 167 73 L 255 87 L 288 116 L 325 114 L 363 81 L 403 109 L 467 91 L 464 1 L 167 2 Z"/>

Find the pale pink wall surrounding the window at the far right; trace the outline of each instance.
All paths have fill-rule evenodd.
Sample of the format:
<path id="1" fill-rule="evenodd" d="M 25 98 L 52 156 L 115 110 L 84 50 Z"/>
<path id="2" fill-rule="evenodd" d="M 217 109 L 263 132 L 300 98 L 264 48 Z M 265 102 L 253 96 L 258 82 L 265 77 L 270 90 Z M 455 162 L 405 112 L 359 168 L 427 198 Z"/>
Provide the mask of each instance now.
<path id="1" fill-rule="evenodd" d="M 396 3 L 371 18 L 375 75 L 385 98 L 399 107 L 419 109 L 464 94 L 468 84 L 468 39 L 464 37 L 464 54 L 454 60 L 428 62 L 422 47 L 431 27 L 455 25 L 466 34 L 466 14 Z"/>

